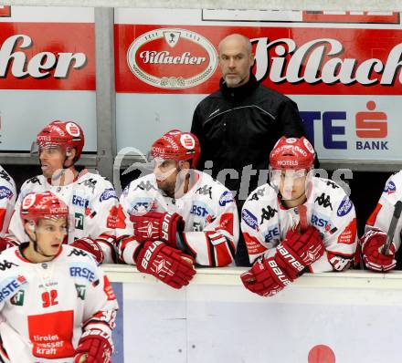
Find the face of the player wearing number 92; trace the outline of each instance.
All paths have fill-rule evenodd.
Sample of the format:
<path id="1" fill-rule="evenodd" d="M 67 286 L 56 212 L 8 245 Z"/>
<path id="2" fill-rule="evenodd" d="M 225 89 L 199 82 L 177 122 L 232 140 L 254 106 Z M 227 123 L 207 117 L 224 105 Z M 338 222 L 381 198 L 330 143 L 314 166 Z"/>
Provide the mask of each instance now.
<path id="1" fill-rule="evenodd" d="M 42 219 L 37 223 L 37 253 L 50 257 L 58 254 L 67 235 L 67 219 Z"/>

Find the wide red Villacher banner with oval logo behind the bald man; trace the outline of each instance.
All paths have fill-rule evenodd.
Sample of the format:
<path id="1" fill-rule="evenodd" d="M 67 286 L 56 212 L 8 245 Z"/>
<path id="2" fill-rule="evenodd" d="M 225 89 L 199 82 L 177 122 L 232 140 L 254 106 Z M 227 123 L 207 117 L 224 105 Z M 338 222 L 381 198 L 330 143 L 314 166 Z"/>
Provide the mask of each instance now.
<path id="1" fill-rule="evenodd" d="M 116 90 L 202 93 L 217 89 L 217 45 L 249 36 L 253 68 L 294 95 L 402 94 L 402 30 L 257 26 L 115 25 Z"/>

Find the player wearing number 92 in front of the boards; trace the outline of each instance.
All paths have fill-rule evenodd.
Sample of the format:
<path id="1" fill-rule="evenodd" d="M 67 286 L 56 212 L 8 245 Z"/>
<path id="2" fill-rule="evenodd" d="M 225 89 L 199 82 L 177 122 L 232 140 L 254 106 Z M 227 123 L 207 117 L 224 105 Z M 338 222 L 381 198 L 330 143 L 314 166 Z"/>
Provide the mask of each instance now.
<path id="1" fill-rule="evenodd" d="M 0 254 L 0 361 L 110 363 L 116 298 L 92 256 L 62 244 L 68 206 L 30 193 L 20 218 L 29 242 Z"/>

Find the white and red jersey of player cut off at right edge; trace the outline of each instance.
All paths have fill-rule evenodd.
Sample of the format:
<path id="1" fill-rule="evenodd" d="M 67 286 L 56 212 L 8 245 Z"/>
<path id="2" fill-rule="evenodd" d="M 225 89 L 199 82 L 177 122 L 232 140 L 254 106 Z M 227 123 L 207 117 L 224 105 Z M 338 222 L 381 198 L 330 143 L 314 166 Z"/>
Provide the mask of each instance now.
<path id="1" fill-rule="evenodd" d="M 378 229 L 387 233 L 394 214 L 395 203 L 400 200 L 402 200 L 402 171 L 391 175 L 386 181 L 386 187 L 381 194 L 380 200 L 365 223 L 365 232 L 371 229 Z M 399 218 L 393 239 L 396 251 L 401 244 L 401 231 L 402 218 Z"/>

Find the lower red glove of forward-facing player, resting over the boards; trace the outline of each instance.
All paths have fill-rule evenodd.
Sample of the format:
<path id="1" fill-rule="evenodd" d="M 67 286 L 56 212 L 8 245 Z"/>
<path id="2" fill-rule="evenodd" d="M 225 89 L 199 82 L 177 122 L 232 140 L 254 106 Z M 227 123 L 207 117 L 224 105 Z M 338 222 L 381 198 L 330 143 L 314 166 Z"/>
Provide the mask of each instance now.
<path id="1" fill-rule="evenodd" d="M 293 282 L 291 275 L 282 270 L 272 257 L 257 260 L 240 278 L 249 291 L 259 296 L 274 296 Z"/>

